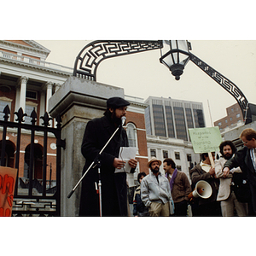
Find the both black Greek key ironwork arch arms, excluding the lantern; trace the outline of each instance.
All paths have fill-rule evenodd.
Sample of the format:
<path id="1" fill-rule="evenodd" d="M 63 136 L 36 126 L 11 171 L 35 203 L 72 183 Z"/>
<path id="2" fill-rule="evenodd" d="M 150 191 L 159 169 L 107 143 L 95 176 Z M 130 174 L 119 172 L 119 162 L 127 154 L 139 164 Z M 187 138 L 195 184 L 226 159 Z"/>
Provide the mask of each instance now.
<path id="1" fill-rule="evenodd" d="M 120 55 L 131 55 L 135 53 L 140 53 L 152 49 L 162 49 L 163 41 L 138 41 L 138 40 L 105 40 L 105 41 L 93 41 L 90 44 L 84 46 L 84 48 L 79 52 L 76 58 L 73 68 L 73 76 L 79 77 L 81 79 L 89 79 L 96 81 L 96 71 L 99 64 L 108 59 L 117 57 Z M 189 44 L 189 49 L 191 46 Z M 216 83 L 218 83 L 224 90 L 228 91 L 231 96 L 238 102 L 241 113 L 243 114 L 243 119 L 246 119 L 246 123 L 252 121 L 249 111 L 249 103 L 246 96 L 241 92 L 241 90 L 230 81 L 230 79 L 225 78 L 221 73 L 218 73 L 214 68 L 207 65 L 206 62 L 201 61 L 198 57 L 192 53 L 188 53 L 189 60 L 195 63 L 197 67 L 207 75 L 209 75 Z"/>

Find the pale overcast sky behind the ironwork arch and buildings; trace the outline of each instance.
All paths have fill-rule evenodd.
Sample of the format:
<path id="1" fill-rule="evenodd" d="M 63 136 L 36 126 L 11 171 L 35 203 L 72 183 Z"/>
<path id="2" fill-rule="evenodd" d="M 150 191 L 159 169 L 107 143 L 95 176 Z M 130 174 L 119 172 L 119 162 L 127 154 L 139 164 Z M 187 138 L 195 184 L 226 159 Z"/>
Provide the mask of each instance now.
<path id="1" fill-rule="evenodd" d="M 172 39 L 172 38 L 160 38 Z M 186 38 L 189 39 L 189 38 Z M 89 40 L 36 40 L 51 52 L 46 61 L 73 67 L 79 51 Z M 191 52 L 230 79 L 256 104 L 256 40 L 189 40 Z M 180 80 L 163 64 L 160 49 L 145 53 L 113 57 L 102 61 L 97 82 L 124 88 L 125 95 L 146 100 L 148 96 L 202 102 L 207 127 L 226 115 L 226 108 L 236 99 L 189 61 Z"/>

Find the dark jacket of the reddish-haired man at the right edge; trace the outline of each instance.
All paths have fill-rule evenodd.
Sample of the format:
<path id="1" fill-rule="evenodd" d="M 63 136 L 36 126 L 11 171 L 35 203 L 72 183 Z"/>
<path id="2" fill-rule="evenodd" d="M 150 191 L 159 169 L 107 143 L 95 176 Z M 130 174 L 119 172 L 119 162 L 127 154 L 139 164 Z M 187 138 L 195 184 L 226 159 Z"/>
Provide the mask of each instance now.
<path id="1" fill-rule="evenodd" d="M 253 167 L 249 148 L 241 148 L 232 159 L 226 161 L 224 164 L 224 167 L 229 167 L 230 170 L 237 166 L 240 166 L 241 172 L 245 173 L 247 176 L 251 189 L 253 211 L 256 212 L 256 172 Z"/>

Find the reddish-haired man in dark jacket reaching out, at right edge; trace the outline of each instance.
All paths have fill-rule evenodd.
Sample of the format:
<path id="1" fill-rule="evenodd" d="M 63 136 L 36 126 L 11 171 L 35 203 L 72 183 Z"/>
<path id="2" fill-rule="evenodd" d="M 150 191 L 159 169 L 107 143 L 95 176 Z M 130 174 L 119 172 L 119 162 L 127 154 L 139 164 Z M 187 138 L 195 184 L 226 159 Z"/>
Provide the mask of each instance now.
<path id="1" fill-rule="evenodd" d="M 245 147 L 225 162 L 224 177 L 229 175 L 233 167 L 240 166 L 241 171 L 247 175 L 251 190 L 252 201 L 248 202 L 249 216 L 256 216 L 256 131 L 247 128 L 241 131 L 240 138 Z"/>

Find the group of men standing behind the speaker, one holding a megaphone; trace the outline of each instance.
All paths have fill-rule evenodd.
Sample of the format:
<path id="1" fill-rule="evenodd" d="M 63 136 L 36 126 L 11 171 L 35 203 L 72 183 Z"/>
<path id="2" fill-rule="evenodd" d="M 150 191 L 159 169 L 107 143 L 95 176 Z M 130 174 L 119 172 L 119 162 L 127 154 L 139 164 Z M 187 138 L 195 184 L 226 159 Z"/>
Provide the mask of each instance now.
<path id="1" fill-rule="evenodd" d="M 234 143 L 224 141 L 219 145 L 221 155 L 217 159 L 215 152 L 201 154 L 201 162 L 189 171 L 191 184 L 184 172 L 177 171 L 172 159 L 163 161 L 166 179 L 160 175 L 161 161 L 150 160 L 151 173 L 140 181 L 141 199 L 148 208 L 148 216 L 189 216 L 189 205 L 194 217 L 256 216 L 256 131 L 247 128 L 241 132 L 240 138 L 245 147 L 237 152 Z M 201 181 L 210 185 L 208 191 L 211 192 L 207 197 L 198 189 Z M 166 189 L 166 182 L 171 192 Z M 204 184 L 201 186 L 204 189 Z M 165 191 L 165 200 L 162 190 Z M 160 210 L 166 201 L 172 202 L 170 212 Z M 157 212 L 156 203 L 161 205 Z M 140 216 L 136 205 L 135 198 L 133 214 Z"/>

